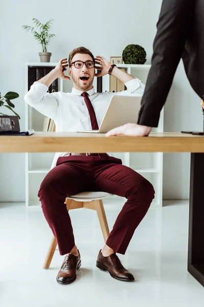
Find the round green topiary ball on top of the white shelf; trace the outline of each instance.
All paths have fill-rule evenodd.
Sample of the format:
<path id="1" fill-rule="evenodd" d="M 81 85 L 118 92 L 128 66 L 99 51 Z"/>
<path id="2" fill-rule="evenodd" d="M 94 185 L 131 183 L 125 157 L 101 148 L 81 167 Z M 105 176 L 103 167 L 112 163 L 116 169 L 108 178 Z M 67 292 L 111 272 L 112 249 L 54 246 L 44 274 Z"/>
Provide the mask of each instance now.
<path id="1" fill-rule="evenodd" d="M 140 45 L 127 45 L 122 52 L 125 64 L 144 64 L 146 62 L 146 51 Z"/>

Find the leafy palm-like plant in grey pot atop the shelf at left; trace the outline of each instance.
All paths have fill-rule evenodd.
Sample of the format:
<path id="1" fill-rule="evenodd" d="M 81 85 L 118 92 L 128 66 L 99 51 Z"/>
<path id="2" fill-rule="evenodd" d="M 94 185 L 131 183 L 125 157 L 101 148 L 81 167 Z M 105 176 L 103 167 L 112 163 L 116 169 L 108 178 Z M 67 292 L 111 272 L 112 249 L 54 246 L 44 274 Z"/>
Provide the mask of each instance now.
<path id="1" fill-rule="evenodd" d="M 47 21 L 46 24 L 41 24 L 40 21 L 36 18 L 32 19 L 36 28 L 39 29 L 39 33 L 35 31 L 34 27 L 31 26 L 22 26 L 25 31 L 30 31 L 33 33 L 34 37 L 37 39 L 39 43 L 42 45 L 42 52 L 39 52 L 40 61 L 41 62 L 49 62 L 52 53 L 47 52 L 47 45 L 49 45 L 49 41 L 55 34 L 49 34 L 49 30 L 51 28 L 50 25 L 53 24 L 53 19 Z"/>

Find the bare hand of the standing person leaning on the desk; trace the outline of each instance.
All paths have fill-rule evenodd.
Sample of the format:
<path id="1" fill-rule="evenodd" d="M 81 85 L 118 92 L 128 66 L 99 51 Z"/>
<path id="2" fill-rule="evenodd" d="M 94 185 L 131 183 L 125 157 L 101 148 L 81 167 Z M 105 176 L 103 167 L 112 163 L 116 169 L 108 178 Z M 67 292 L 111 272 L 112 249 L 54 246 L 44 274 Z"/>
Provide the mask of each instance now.
<path id="1" fill-rule="evenodd" d="M 106 137 L 124 135 L 132 137 L 145 137 L 151 131 L 151 127 L 138 124 L 125 124 L 107 132 Z"/>

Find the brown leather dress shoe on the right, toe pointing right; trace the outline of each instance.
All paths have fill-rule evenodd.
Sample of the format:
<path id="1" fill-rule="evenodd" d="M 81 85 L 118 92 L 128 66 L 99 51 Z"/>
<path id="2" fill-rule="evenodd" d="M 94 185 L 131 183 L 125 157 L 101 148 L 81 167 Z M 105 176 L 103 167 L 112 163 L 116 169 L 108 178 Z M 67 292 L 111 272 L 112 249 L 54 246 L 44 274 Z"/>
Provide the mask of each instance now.
<path id="1" fill-rule="evenodd" d="M 96 261 L 96 267 L 100 270 L 108 271 L 115 279 L 122 281 L 135 280 L 134 276 L 122 266 L 116 254 L 104 257 L 100 250 Z"/>

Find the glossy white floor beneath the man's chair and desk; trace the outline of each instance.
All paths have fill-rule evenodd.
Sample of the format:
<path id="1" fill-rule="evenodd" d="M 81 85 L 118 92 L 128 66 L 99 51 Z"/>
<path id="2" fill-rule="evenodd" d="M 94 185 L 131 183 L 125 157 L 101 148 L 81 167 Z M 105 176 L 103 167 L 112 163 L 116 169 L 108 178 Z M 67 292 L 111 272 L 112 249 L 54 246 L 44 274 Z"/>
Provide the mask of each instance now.
<path id="1" fill-rule="evenodd" d="M 118 211 L 106 211 L 111 228 Z M 75 282 L 62 286 L 56 282 L 64 259 L 58 251 L 50 269 L 42 269 L 51 233 L 41 208 L 0 204 L 1 307 L 203 306 L 204 288 L 187 272 L 187 201 L 149 209 L 126 254 L 119 255 L 136 278 L 132 283 L 95 267 L 103 247 L 96 213 L 77 209 L 70 215 L 82 267 Z"/>

